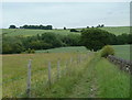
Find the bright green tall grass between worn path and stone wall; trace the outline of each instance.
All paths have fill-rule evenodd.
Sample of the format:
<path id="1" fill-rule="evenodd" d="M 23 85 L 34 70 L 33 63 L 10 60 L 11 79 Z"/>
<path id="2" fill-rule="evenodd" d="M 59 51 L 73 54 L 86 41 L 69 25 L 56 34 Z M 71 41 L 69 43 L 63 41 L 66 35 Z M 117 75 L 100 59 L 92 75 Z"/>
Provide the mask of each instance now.
<path id="1" fill-rule="evenodd" d="M 101 58 L 96 66 L 100 98 L 129 98 L 130 75 Z"/>

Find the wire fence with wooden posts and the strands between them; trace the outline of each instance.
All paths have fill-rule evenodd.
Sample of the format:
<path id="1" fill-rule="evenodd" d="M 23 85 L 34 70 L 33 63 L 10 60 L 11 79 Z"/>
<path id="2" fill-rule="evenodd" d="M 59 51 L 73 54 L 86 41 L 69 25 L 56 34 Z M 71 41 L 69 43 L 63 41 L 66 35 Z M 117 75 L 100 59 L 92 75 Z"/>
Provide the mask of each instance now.
<path id="1" fill-rule="evenodd" d="M 58 58 L 55 64 L 48 60 L 47 67 L 44 67 L 44 69 L 41 69 L 41 70 L 32 70 L 33 60 L 30 59 L 28 64 L 28 70 L 25 70 L 28 73 L 26 75 L 23 75 L 23 77 L 14 77 L 13 79 L 3 81 L 1 85 L 6 85 L 9 82 L 24 79 L 25 81 L 24 82 L 25 85 L 23 86 L 24 89 L 21 92 L 16 92 L 15 97 L 16 98 L 21 98 L 21 97 L 31 98 L 32 91 L 35 90 L 34 85 L 37 81 L 40 81 L 40 80 L 35 81 L 33 78 L 33 75 L 41 74 L 41 76 L 43 76 L 43 80 L 41 81 L 43 81 L 44 87 L 51 88 L 51 86 L 54 85 L 56 81 L 58 81 L 61 78 L 63 78 L 63 76 L 66 76 L 66 77 L 70 76 L 73 70 L 77 68 L 77 66 L 80 66 L 82 63 L 85 63 L 88 59 L 88 57 L 91 55 L 92 55 L 91 53 L 88 53 L 86 55 L 79 54 L 77 57 L 70 57 L 68 59 L 65 59 L 64 63 L 62 62 L 64 59 L 61 59 L 61 58 Z"/>

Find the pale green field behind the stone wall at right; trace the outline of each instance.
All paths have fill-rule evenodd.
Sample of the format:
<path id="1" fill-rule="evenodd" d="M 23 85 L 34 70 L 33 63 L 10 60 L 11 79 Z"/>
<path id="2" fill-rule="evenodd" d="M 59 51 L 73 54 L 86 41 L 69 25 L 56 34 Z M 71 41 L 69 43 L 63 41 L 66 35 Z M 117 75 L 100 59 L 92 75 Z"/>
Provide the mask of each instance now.
<path id="1" fill-rule="evenodd" d="M 113 45 L 116 56 L 130 59 L 130 45 Z"/>

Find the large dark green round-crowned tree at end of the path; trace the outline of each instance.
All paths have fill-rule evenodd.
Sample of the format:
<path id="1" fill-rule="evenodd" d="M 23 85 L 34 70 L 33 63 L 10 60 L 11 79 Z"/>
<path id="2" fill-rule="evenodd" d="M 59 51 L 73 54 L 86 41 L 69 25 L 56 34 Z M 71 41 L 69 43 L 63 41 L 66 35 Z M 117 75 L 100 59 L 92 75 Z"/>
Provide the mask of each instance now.
<path id="1" fill-rule="evenodd" d="M 110 33 L 97 27 L 86 29 L 81 32 L 81 43 L 90 51 L 101 49 L 110 44 Z"/>

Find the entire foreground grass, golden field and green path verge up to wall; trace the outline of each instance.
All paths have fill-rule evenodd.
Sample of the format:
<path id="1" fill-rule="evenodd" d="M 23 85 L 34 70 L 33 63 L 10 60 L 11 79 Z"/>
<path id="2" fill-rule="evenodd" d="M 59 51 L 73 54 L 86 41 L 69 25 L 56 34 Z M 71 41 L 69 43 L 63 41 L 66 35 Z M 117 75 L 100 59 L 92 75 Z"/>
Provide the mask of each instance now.
<path id="1" fill-rule="evenodd" d="M 81 62 L 78 60 L 79 55 Z M 61 79 L 56 77 L 58 58 L 61 58 Z M 32 59 L 32 98 L 129 97 L 130 75 L 107 59 L 100 58 L 97 53 L 3 55 L 3 97 L 26 97 L 29 59 Z M 52 62 L 51 88 L 47 85 L 48 60 Z"/>

